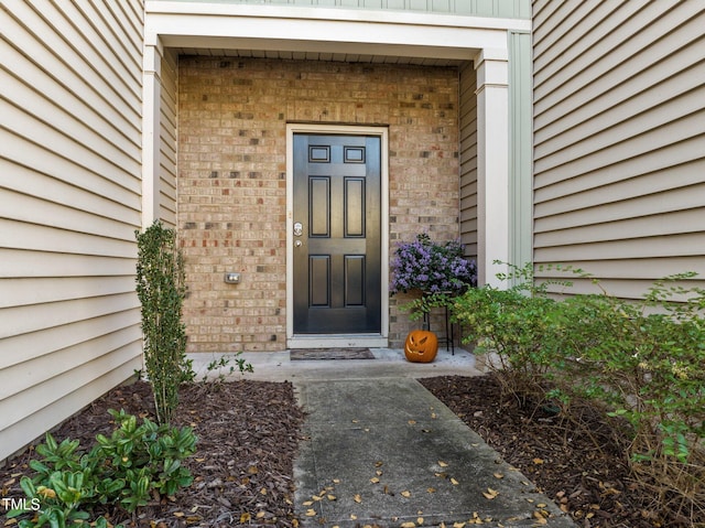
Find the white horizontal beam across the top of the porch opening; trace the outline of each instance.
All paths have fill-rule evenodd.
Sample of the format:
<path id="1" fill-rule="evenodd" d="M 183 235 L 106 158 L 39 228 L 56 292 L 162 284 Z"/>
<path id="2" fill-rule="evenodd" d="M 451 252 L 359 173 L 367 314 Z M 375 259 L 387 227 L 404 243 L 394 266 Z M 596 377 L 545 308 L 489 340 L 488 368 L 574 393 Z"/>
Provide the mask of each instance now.
<path id="1" fill-rule="evenodd" d="M 191 2 L 148 2 L 148 8 L 145 42 L 161 39 L 174 47 L 457 60 L 469 60 L 482 49 L 507 47 L 508 28 L 499 23 L 505 19 Z M 511 22 L 522 25 L 524 21 Z"/>

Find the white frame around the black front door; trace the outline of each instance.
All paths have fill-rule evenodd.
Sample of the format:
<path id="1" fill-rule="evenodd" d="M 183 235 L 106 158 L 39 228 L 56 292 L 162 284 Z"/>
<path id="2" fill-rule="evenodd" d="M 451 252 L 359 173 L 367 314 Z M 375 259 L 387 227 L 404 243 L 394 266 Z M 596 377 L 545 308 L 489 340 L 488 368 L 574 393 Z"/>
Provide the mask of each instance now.
<path id="1" fill-rule="evenodd" d="M 372 334 L 294 334 L 294 134 L 321 133 L 380 138 L 380 332 Z M 387 347 L 389 344 L 389 129 L 352 125 L 286 125 L 286 347 Z"/>

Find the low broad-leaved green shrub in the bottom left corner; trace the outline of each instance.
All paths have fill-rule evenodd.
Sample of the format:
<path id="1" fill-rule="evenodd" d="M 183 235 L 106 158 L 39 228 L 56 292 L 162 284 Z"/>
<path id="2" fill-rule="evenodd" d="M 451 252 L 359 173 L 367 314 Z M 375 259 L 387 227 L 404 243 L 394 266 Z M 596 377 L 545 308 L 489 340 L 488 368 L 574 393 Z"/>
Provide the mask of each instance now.
<path id="1" fill-rule="evenodd" d="M 110 438 L 98 434 L 97 445 L 86 453 L 77 440 L 57 443 L 46 434 L 45 443 L 36 448 L 42 457 L 30 462 L 35 474 L 20 481 L 28 504 L 37 510 L 8 513 L 9 518 L 24 517 L 20 528 L 73 526 L 88 520 L 102 505 L 133 513 L 152 494 L 173 495 L 193 482 L 182 466 L 195 452 L 196 437 L 189 428 L 158 425 L 148 419 L 138 423 L 122 410 L 109 412 L 117 429 Z M 98 517 L 95 526 L 106 527 L 106 519 Z"/>

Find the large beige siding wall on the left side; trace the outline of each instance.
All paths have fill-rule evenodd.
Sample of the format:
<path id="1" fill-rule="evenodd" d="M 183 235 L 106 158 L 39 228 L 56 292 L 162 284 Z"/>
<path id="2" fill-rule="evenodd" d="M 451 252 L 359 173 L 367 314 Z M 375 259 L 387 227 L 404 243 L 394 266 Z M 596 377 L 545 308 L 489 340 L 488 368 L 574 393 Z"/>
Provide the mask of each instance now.
<path id="1" fill-rule="evenodd" d="M 0 460 L 141 365 L 142 20 L 139 0 L 0 10 Z"/>

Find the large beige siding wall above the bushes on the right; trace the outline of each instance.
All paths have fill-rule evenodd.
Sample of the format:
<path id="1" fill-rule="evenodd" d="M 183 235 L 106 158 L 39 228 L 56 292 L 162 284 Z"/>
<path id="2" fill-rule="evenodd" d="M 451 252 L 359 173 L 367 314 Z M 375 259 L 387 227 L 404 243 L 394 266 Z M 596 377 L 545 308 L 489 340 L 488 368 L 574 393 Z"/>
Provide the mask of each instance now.
<path id="1" fill-rule="evenodd" d="M 705 4 L 535 1 L 533 15 L 535 262 L 622 297 L 705 276 Z"/>

